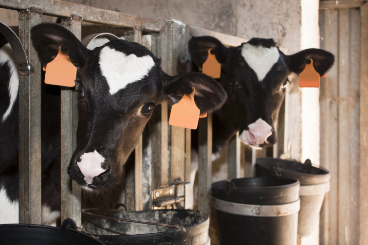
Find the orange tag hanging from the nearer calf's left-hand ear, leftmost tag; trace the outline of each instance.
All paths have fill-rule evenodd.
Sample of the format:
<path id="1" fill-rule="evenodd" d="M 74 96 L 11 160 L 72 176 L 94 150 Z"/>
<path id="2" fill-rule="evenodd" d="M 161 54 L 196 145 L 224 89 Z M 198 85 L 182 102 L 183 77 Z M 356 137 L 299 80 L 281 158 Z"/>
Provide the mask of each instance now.
<path id="1" fill-rule="evenodd" d="M 47 63 L 44 70 L 45 83 L 65 87 L 75 86 L 77 68 L 70 61 L 68 46 L 60 45 L 55 59 Z"/>

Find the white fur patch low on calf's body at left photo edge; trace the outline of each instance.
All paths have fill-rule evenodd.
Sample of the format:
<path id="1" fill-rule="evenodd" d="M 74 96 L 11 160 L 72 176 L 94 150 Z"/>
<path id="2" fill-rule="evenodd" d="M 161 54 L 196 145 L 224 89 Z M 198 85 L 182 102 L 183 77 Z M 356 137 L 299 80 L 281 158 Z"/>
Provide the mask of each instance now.
<path id="1" fill-rule="evenodd" d="M 19 204 L 9 200 L 4 189 L 0 190 L 0 224 L 19 223 Z"/>

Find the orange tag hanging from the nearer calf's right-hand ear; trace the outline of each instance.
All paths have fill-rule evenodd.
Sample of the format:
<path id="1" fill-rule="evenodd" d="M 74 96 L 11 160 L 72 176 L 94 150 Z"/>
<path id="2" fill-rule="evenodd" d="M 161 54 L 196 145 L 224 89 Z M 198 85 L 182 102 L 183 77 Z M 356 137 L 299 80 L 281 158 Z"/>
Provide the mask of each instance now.
<path id="1" fill-rule="evenodd" d="M 207 116 L 207 113 L 200 115 L 200 109 L 194 103 L 194 93 L 193 88 L 191 94 L 184 94 L 183 98 L 171 107 L 168 122 L 170 125 L 197 129 L 198 119 Z"/>

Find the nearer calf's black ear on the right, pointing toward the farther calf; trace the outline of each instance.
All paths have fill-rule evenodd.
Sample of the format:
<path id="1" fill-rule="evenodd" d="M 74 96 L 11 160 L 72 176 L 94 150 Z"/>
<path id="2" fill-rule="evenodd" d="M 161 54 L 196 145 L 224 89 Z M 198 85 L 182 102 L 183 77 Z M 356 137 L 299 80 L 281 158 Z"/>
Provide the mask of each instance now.
<path id="1" fill-rule="evenodd" d="M 192 87 L 195 89 L 194 102 L 201 114 L 219 109 L 227 99 L 220 83 L 199 72 L 170 76 L 164 85 L 164 93 L 173 103 L 178 103 L 184 94 L 192 93 Z"/>

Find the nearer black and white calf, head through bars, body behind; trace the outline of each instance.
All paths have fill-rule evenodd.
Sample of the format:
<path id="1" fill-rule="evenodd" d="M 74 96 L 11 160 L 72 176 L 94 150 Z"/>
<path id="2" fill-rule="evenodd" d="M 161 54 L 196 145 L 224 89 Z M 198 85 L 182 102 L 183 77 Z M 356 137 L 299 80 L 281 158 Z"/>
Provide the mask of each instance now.
<path id="1" fill-rule="evenodd" d="M 195 72 L 169 76 L 160 60 L 137 43 L 116 39 L 88 50 L 70 31 L 49 23 L 35 26 L 31 38 L 42 64 L 52 61 L 64 45 L 78 68 L 77 149 L 65 172 L 85 190 L 106 190 L 121 181 L 123 166 L 155 105 L 176 103 L 192 87 L 201 113 L 220 108 L 226 100 L 212 78 Z M 5 81 L 0 87 L 0 205 L 8 204 L 14 214 L 1 208 L 0 223 L 17 223 L 18 73 L 10 46 L 6 47 L 7 52 L 0 53 L 0 76 Z M 60 209 L 60 92 L 57 86 L 42 88 L 42 215 L 52 214 L 42 222 L 48 224 Z"/>

